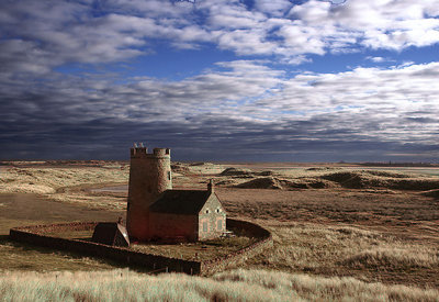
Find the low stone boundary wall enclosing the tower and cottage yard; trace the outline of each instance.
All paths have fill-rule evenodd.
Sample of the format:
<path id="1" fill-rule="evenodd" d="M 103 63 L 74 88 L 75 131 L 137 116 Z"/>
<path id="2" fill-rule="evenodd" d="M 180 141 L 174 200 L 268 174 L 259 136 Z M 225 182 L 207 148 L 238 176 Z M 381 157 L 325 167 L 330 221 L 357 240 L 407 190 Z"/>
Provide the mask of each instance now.
<path id="1" fill-rule="evenodd" d="M 249 236 L 257 238 L 257 242 L 237 251 L 230 253 L 226 257 L 204 261 L 170 258 L 134 251 L 124 247 L 109 246 L 81 239 L 60 238 L 49 235 L 49 233 L 67 231 L 89 231 L 93 230 L 97 224 L 98 222 L 74 222 L 21 226 L 11 228 L 9 236 L 12 241 L 111 259 L 131 267 L 203 276 L 212 275 L 227 267 L 239 265 L 249 257 L 261 253 L 264 248 L 271 247 L 273 243 L 271 233 L 266 228 L 255 223 L 234 219 L 227 219 L 227 227 L 244 231 Z"/>

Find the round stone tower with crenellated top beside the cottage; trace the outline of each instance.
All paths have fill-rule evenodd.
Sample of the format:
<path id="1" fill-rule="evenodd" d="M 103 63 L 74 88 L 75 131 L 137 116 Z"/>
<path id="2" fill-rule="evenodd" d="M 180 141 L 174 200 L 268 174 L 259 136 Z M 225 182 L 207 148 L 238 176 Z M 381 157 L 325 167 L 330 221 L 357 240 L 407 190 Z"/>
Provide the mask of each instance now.
<path id="1" fill-rule="evenodd" d="M 168 148 L 131 148 L 126 228 L 130 237 L 147 241 L 149 205 L 166 190 L 172 189 L 171 156 Z"/>

